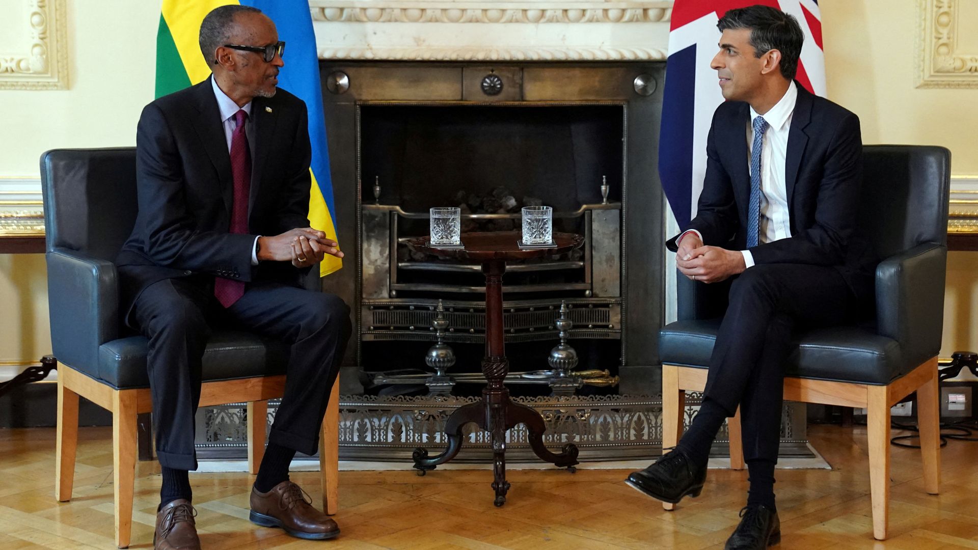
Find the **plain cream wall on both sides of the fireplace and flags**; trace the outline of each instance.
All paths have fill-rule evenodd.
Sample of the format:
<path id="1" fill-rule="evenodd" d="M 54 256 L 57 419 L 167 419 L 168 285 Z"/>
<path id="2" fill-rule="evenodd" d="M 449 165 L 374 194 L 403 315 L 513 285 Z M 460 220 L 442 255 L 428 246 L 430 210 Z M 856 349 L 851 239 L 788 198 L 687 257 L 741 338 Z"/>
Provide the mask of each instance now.
<path id="1" fill-rule="evenodd" d="M 914 87 L 916 2 L 823 0 L 821 9 L 828 95 L 860 115 L 864 142 L 943 145 L 955 174 L 978 175 L 978 89 Z M 55 147 L 134 144 L 153 97 L 158 10 L 152 0 L 68 1 L 69 89 L 0 91 L 0 177 L 37 177 L 38 157 Z M 41 256 L 0 256 L 0 360 L 50 351 L 44 278 Z M 951 254 L 946 312 L 942 354 L 978 350 L 978 253 Z"/>

